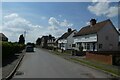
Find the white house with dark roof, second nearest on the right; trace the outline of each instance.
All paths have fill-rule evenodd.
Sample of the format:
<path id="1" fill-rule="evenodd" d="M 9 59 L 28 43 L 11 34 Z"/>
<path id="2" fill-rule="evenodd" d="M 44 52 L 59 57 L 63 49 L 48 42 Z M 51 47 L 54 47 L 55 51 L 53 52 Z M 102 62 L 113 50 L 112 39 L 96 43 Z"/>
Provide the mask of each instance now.
<path id="1" fill-rule="evenodd" d="M 74 41 L 73 35 L 75 34 L 75 32 L 76 30 L 68 28 L 68 31 L 58 39 L 58 48 L 62 50 L 72 49 L 72 43 Z"/>

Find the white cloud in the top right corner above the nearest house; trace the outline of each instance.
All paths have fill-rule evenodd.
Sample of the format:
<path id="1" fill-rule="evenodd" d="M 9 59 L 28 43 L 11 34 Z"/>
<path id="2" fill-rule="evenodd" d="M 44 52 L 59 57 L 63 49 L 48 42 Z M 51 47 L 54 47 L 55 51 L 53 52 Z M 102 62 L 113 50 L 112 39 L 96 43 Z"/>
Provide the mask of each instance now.
<path id="1" fill-rule="evenodd" d="M 110 2 L 95 2 L 88 6 L 88 10 L 97 16 L 115 17 L 118 15 L 118 7 L 110 6 Z"/>

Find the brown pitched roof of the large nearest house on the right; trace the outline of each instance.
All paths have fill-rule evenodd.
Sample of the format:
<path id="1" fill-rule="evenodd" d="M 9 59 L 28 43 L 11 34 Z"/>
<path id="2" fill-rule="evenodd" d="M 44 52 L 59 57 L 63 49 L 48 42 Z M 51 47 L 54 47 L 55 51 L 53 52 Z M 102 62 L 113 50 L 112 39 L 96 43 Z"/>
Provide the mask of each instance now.
<path id="1" fill-rule="evenodd" d="M 93 26 L 86 26 L 86 27 L 83 27 L 82 29 L 80 29 L 80 31 L 78 33 L 76 33 L 74 35 L 74 37 L 76 36 L 82 36 L 82 35 L 88 35 L 88 34 L 94 34 L 94 33 L 97 33 L 99 30 L 101 30 L 103 27 L 105 27 L 105 25 L 110 22 L 110 19 L 107 19 L 105 21 L 102 21 L 102 22 L 98 22 L 96 23 L 95 25 Z"/>

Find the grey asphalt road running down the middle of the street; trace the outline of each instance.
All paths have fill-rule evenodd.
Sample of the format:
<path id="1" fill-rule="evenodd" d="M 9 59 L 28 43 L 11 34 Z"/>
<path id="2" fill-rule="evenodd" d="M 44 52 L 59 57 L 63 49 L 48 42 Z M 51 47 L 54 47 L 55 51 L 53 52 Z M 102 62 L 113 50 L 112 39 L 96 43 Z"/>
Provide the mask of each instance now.
<path id="1" fill-rule="evenodd" d="M 110 78 L 101 71 L 70 62 L 43 49 L 26 53 L 14 78 Z"/>

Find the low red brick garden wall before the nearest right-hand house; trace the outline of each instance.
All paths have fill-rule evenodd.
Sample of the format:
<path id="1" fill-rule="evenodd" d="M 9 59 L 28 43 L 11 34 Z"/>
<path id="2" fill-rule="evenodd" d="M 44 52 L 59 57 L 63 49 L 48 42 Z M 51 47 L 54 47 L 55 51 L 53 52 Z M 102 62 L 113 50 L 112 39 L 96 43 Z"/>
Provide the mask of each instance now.
<path id="1" fill-rule="evenodd" d="M 86 52 L 86 59 L 95 60 L 106 64 L 112 64 L 112 55 L 110 54 L 104 55 L 103 53 L 97 54 Z"/>

